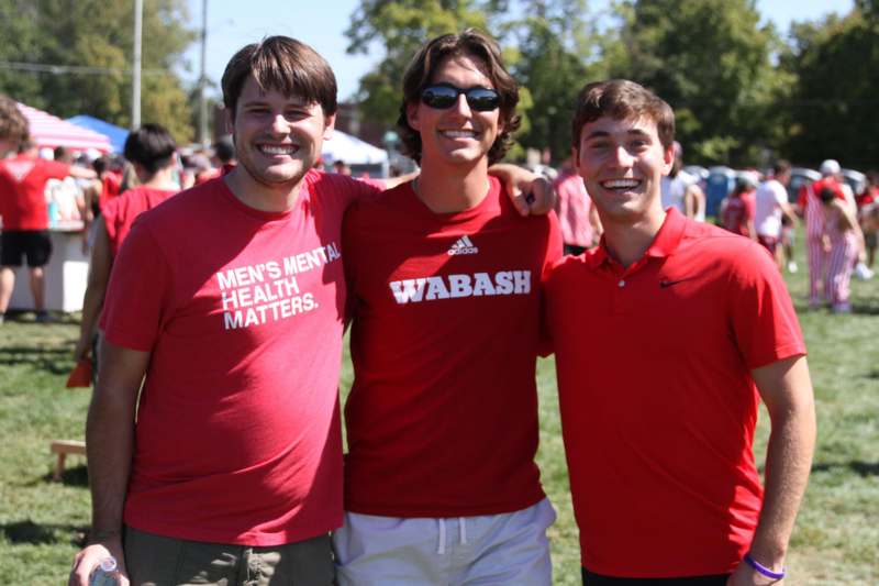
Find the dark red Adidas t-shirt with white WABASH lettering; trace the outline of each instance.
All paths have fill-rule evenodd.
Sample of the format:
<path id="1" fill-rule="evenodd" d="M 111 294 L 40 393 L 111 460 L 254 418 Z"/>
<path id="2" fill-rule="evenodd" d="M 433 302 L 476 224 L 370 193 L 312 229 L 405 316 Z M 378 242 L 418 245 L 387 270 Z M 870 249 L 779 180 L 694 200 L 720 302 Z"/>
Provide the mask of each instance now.
<path id="1" fill-rule="evenodd" d="M 493 178 L 458 213 L 433 213 L 405 184 L 352 208 L 343 247 L 346 510 L 458 517 L 542 499 L 534 369 L 555 215 L 520 217 Z"/>

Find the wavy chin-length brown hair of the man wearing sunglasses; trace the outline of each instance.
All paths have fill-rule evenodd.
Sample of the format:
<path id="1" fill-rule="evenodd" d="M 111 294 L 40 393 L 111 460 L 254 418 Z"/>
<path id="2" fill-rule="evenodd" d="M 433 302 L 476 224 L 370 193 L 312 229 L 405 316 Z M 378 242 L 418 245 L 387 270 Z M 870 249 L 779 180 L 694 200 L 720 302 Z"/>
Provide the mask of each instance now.
<path id="1" fill-rule="evenodd" d="M 494 163 L 503 158 L 512 143 L 512 134 L 519 129 L 521 118 L 515 113 L 519 103 L 519 85 L 507 71 L 498 44 L 488 35 L 467 29 L 460 34 L 444 34 L 421 47 L 403 75 L 403 103 L 400 106 L 400 140 L 403 153 L 421 163 L 421 134 L 409 125 L 407 107 L 421 100 L 421 92 L 431 85 L 436 67 L 447 57 L 467 55 L 482 60 L 488 69 L 488 78 L 500 96 L 500 122 L 503 130 L 488 152 L 488 159 Z"/>

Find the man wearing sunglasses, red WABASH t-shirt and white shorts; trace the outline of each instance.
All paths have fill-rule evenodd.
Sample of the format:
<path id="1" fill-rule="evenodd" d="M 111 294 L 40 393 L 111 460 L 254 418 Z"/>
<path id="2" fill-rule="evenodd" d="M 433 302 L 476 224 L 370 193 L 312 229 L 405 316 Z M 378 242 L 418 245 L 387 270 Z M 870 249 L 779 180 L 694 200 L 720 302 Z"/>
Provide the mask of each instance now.
<path id="1" fill-rule="evenodd" d="M 561 237 L 487 173 L 519 125 L 518 87 L 497 44 L 465 31 L 419 52 L 403 95 L 421 176 L 343 228 L 355 382 L 337 579 L 549 585 L 534 371 Z"/>

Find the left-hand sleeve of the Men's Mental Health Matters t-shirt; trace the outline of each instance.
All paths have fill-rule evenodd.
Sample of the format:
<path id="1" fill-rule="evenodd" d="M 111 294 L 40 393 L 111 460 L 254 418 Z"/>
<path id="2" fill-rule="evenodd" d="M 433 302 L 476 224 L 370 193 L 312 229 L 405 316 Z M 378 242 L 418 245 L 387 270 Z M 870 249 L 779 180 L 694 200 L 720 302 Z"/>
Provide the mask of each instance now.
<path id="1" fill-rule="evenodd" d="M 170 308 L 170 266 L 154 235 L 135 223 L 113 262 L 101 329 L 113 344 L 149 352 Z"/>

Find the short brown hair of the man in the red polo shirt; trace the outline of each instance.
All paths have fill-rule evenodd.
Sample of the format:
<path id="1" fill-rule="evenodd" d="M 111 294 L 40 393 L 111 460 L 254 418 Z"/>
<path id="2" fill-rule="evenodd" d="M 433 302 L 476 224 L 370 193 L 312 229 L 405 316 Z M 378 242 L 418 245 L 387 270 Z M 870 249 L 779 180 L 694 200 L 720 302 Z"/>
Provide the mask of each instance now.
<path id="1" fill-rule="evenodd" d="M 614 120 L 647 118 L 656 124 L 659 142 L 670 148 L 675 142 L 675 112 L 665 100 L 647 88 L 627 79 L 609 79 L 587 84 L 577 97 L 570 123 L 571 145 L 580 148 L 583 125 L 601 117 Z"/>

